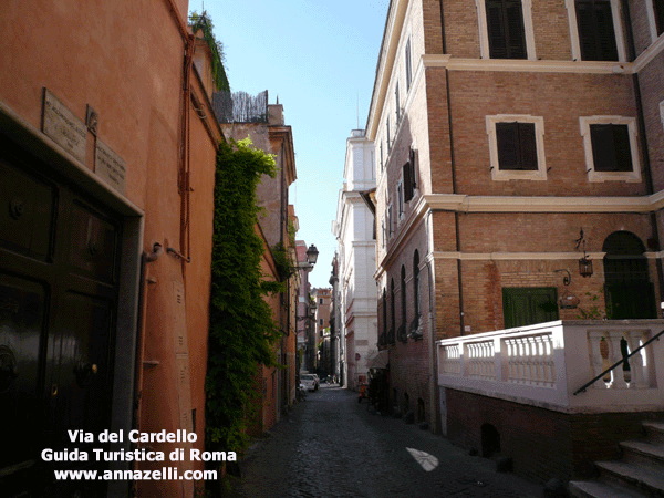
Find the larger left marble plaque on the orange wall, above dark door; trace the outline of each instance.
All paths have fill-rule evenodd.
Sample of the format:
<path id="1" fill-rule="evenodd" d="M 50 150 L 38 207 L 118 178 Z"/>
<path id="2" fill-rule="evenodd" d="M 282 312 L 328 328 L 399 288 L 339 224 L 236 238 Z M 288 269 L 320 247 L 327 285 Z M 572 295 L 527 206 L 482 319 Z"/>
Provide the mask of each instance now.
<path id="1" fill-rule="evenodd" d="M 85 163 L 85 123 L 74 116 L 48 89 L 44 89 L 42 132 L 77 160 Z"/>

